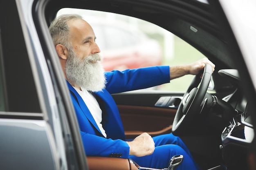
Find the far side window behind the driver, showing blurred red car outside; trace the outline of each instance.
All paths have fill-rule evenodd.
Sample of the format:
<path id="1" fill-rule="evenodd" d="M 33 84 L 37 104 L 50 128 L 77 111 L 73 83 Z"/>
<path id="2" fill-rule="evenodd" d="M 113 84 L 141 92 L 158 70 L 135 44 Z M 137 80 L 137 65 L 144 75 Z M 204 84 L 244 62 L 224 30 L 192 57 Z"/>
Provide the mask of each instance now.
<path id="1" fill-rule="evenodd" d="M 92 26 L 106 71 L 189 64 L 205 57 L 173 33 L 138 18 L 84 9 L 61 9 L 57 15 L 63 13 L 78 13 Z M 153 89 L 186 91 L 193 77 L 185 75 Z"/>

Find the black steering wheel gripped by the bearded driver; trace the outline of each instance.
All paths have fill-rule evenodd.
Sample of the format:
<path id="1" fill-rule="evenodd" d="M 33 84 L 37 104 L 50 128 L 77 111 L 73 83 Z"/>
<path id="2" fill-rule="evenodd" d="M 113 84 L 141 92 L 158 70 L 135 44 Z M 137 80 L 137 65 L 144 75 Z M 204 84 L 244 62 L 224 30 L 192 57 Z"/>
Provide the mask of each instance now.
<path id="1" fill-rule="evenodd" d="M 203 76 L 201 79 L 203 71 Z M 193 118 L 200 114 L 200 106 L 204 100 L 207 88 L 211 81 L 212 67 L 210 64 L 205 64 L 204 69 L 198 75 L 195 75 L 188 90 L 184 93 L 183 99 L 177 109 L 173 120 L 172 133 L 180 135 L 188 130 L 189 125 L 193 123 Z M 200 84 L 199 88 L 198 85 Z M 204 100 L 204 104 L 207 99 Z"/>

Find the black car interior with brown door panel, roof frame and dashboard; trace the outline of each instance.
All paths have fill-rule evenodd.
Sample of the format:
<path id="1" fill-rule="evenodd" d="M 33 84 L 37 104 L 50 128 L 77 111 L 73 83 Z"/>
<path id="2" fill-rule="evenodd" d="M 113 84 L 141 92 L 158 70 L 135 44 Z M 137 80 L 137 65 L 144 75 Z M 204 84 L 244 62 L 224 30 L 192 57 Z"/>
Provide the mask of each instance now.
<path id="1" fill-rule="evenodd" d="M 220 165 L 230 169 L 245 167 L 246 148 L 252 142 L 252 138 L 247 139 L 243 135 L 245 129 L 252 130 L 250 113 L 247 111 L 249 106 L 240 88 L 237 66 L 230 57 L 227 37 L 216 20 L 216 13 L 208 4 L 177 0 L 168 4 L 164 1 L 147 1 L 146 5 L 144 1 L 88 0 L 72 4 L 64 1 L 62 7 L 67 6 L 120 13 L 153 22 L 179 36 L 216 64 L 212 74 L 214 92 L 206 93 L 209 77 L 206 80 L 208 84 L 202 85 L 201 82 L 204 90 L 194 98 L 200 96 L 203 99 L 193 101 L 195 108 L 191 109 L 191 117 L 188 114 L 186 119 L 181 118 L 179 108 L 185 107 L 182 99 L 198 86 L 198 80 L 188 84 L 186 93 L 135 91 L 114 94 L 126 139 L 133 139 L 142 132 L 152 136 L 173 132 L 183 139 L 202 169 L 223 168 Z M 58 9 L 61 6 L 55 1 L 45 4 L 47 12 L 44 14 L 48 25 Z M 170 107 L 173 105 L 175 107 Z M 198 105 L 201 105 L 201 111 L 197 109 Z M 183 119 L 182 124 L 180 119 Z M 174 124 L 180 126 L 174 130 Z M 249 134 L 252 135 L 253 130 L 250 130 Z M 90 159 L 88 161 L 90 167 Z"/>

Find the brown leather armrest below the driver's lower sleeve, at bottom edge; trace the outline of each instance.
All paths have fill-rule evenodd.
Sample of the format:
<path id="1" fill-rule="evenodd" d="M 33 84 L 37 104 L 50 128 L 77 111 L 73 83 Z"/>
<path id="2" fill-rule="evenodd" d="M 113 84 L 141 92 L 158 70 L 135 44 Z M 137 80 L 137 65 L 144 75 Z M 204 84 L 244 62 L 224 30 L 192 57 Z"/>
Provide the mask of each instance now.
<path id="1" fill-rule="evenodd" d="M 132 159 L 114 157 L 87 157 L 89 170 L 138 170 Z"/>

